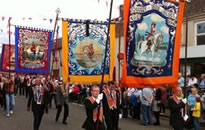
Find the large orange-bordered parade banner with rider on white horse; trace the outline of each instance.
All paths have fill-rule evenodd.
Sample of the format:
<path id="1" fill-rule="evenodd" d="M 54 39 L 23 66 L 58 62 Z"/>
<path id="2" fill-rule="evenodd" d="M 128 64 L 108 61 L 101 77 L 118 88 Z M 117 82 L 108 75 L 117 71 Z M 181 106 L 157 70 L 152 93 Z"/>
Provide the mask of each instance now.
<path id="1" fill-rule="evenodd" d="M 177 84 L 184 2 L 125 0 L 122 85 Z"/>

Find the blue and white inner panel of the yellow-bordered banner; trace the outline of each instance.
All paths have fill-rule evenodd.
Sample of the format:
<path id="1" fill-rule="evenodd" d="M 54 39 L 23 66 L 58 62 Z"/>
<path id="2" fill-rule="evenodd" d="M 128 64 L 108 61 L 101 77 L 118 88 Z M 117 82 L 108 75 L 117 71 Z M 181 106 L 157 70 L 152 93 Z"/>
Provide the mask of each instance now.
<path id="1" fill-rule="evenodd" d="M 82 22 L 70 22 L 68 25 L 70 75 L 102 74 L 107 25 L 90 23 L 89 36 L 86 35 L 85 25 Z M 107 65 L 109 65 L 109 59 L 108 56 Z M 109 66 L 106 66 L 105 72 L 109 74 Z"/>

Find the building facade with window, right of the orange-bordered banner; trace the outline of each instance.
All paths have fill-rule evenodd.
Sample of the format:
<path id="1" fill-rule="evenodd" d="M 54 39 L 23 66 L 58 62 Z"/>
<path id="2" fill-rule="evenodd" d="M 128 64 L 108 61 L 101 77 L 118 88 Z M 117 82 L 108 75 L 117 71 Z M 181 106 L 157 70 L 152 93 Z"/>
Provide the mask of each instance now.
<path id="1" fill-rule="evenodd" d="M 185 6 L 180 52 L 180 72 L 182 74 L 185 68 L 186 42 L 188 46 L 187 75 L 200 77 L 205 73 L 205 0 L 192 0 Z"/>

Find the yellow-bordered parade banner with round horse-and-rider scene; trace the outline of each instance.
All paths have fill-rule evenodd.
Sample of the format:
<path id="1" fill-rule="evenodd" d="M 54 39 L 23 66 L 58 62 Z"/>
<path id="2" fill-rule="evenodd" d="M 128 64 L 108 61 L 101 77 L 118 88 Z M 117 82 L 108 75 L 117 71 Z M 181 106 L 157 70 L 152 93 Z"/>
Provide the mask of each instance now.
<path id="1" fill-rule="evenodd" d="M 102 79 L 108 23 L 83 20 L 62 22 L 62 75 L 64 82 L 100 83 Z M 110 41 L 104 81 L 113 80 L 115 25 L 110 26 Z"/>

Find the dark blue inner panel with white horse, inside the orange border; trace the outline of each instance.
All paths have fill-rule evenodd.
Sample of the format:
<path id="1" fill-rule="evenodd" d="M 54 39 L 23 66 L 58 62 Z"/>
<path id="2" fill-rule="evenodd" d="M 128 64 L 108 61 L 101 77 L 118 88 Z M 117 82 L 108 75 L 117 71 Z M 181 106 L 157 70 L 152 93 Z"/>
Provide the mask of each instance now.
<path id="1" fill-rule="evenodd" d="M 128 75 L 172 74 L 178 3 L 131 0 L 128 25 Z"/>

